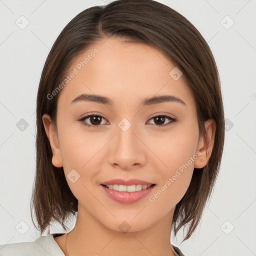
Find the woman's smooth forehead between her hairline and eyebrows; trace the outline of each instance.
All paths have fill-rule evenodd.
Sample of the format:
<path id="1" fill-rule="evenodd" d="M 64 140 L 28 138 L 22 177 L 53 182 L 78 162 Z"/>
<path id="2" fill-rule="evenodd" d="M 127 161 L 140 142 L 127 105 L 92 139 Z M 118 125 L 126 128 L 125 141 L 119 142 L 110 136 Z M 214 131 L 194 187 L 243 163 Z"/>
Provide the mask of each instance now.
<path id="1" fill-rule="evenodd" d="M 173 68 L 164 54 L 147 44 L 102 39 L 72 60 L 67 75 L 75 75 L 62 88 L 59 101 L 69 104 L 78 94 L 89 93 L 124 104 L 172 94 L 193 103 L 184 76 L 171 76 Z"/>

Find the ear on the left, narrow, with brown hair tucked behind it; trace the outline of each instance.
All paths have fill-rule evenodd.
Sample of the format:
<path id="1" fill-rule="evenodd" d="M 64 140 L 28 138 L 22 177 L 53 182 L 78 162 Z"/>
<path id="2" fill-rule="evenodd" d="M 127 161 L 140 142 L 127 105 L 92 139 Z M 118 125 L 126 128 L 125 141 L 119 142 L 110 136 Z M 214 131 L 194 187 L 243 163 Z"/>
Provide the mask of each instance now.
<path id="1" fill-rule="evenodd" d="M 47 137 L 50 142 L 50 147 L 52 151 L 52 164 L 55 167 L 62 167 L 62 158 L 61 158 L 61 153 L 59 149 L 59 144 L 58 144 L 58 137 L 57 137 L 57 132 L 56 129 L 51 121 L 51 118 L 48 114 L 43 114 L 42 116 L 42 122 L 44 125 L 45 132 L 47 134 Z"/>

